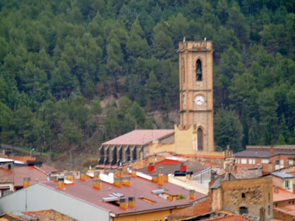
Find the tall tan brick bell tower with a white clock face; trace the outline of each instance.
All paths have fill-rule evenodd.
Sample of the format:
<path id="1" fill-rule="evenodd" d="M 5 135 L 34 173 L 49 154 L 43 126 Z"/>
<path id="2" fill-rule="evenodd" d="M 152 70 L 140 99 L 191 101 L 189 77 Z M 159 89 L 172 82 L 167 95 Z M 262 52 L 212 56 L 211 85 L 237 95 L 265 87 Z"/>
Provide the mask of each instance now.
<path id="1" fill-rule="evenodd" d="M 193 126 L 195 152 L 214 151 L 213 49 L 211 41 L 178 45 L 180 115 L 183 130 Z"/>

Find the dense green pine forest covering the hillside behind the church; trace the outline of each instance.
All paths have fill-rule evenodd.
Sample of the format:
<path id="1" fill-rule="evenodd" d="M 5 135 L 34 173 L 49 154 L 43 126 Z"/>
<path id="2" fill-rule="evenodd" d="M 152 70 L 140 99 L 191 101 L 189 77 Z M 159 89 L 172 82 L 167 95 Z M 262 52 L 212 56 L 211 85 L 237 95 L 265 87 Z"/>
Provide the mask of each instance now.
<path id="1" fill-rule="evenodd" d="M 216 145 L 295 144 L 294 4 L 0 1 L 1 142 L 68 152 L 158 128 L 145 114 L 179 109 L 185 36 L 213 41 Z"/>

